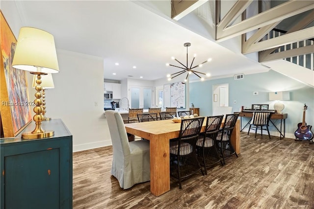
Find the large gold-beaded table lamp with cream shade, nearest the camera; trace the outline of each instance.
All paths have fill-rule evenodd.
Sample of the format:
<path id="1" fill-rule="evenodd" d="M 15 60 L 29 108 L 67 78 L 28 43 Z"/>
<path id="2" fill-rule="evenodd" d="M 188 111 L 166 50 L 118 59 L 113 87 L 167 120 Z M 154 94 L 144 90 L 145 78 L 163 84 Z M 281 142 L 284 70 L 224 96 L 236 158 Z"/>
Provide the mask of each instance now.
<path id="1" fill-rule="evenodd" d="M 22 139 L 41 139 L 51 137 L 54 131 L 45 131 L 41 128 L 43 121 L 42 100 L 41 100 L 41 77 L 47 73 L 59 72 L 57 54 L 54 45 L 53 36 L 41 29 L 33 27 L 22 27 L 20 29 L 18 42 L 15 48 L 15 53 L 12 61 L 12 67 L 19 70 L 30 71 L 36 75 L 34 100 L 35 107 L 33 116 L 35 121 L 35 129 L 32 132 L 22 134 Z"/>

